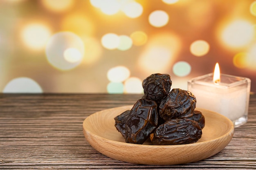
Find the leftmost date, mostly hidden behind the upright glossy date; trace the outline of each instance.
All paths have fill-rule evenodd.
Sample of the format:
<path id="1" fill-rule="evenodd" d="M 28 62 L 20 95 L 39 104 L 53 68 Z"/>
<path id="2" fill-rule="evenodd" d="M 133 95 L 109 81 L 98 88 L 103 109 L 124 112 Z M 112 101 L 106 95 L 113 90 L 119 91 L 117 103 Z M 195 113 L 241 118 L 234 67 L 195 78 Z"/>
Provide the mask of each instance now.
<path id="1" fill-rule="evenodd" d="M 117 130 L 122 134 L 124 138 L 126 138 L 125 135 L 125 124 L 127 122 L 127 117 L 130 115 L 130 110 L 126 110 L 120 115 L 116 116 L 115 119 L 115 127 Z"/>

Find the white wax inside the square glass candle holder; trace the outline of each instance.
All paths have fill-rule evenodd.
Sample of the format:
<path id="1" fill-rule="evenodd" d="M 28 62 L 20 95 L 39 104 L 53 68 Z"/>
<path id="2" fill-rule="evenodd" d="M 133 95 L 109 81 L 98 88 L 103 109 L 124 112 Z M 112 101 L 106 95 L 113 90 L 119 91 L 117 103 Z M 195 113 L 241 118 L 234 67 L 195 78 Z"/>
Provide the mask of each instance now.
<path id="1" fill-rule="evenodd" d="M 246 88 L 236 87 L 232 91 L 227 89 L 227 91 L 220 93 L 218 88 L 208 86 L 195 87 L 191 87 L 189 91 L 195 95 L 197 108 L 205 108 L 220 113 L 228 117 L 231 121 L 235 121 L 246 115 Z"/>

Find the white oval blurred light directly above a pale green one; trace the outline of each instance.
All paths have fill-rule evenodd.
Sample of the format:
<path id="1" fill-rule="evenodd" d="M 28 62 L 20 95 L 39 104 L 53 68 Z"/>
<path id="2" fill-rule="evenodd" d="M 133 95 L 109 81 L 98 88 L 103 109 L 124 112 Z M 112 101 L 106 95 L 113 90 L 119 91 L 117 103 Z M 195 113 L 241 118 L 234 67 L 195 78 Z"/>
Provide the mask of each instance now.
<path id="1" fill-rule="evenodd" d="M 130 70 L 125 66 L 115 66 L 108 70 L 107 77 L 110 82 L 124 82 L 130 77 Z"/>

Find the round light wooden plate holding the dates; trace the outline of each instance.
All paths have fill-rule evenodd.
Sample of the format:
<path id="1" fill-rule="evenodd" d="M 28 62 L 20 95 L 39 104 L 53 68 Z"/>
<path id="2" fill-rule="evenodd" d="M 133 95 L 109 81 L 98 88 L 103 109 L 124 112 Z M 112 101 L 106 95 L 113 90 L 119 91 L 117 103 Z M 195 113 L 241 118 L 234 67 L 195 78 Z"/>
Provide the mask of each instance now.
<path id="1" fill-rule="evenodd" d="M 132 105 L 111 108 L 94 113 L 83 121 L 83 134 L 90 145 L 102 154 L 120 161 L 146 165 L 175 165 L 191 163 L 211 157 L 229 144 L 234 125 L 218 113 L 196 108 L 205 117 L 202 137 L 194 144 L 143 145 L 128 144 L 115 128 L 114 117 Z"/>

